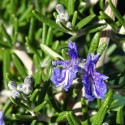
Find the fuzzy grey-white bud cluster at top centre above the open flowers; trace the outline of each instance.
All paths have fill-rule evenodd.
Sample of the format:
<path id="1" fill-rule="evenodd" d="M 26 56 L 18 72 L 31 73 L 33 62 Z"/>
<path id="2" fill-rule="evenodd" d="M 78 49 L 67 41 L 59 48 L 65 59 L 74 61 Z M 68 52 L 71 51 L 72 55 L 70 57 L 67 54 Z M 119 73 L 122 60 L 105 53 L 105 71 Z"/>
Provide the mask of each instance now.
<path id="1" fill-rule="evenodd" d="M 56 11 L 58 13 L 56 17 L 56 22 L 62 22 L 67 28 L 71 29 L 71 22 L 69 22 L 69 15 L 65 13 L 64 7 L 61 4 L 56 6 Z"/>

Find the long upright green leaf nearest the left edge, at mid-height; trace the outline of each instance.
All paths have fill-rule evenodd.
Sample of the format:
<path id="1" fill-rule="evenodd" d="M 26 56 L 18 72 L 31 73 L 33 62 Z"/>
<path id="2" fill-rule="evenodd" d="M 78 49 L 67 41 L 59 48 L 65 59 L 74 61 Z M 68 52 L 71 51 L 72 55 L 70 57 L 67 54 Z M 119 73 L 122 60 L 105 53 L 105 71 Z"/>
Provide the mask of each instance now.
<path id="1" fill-rule="evenodd" d="M 10 61 L 11 61 L 11 54 L 10 50 L 4 50 L 3 52 L 3 80 L 4 80 L 4 87 L 8 89 L 8 81 L 6 78 L 6 74 L 10 71 Z"/>

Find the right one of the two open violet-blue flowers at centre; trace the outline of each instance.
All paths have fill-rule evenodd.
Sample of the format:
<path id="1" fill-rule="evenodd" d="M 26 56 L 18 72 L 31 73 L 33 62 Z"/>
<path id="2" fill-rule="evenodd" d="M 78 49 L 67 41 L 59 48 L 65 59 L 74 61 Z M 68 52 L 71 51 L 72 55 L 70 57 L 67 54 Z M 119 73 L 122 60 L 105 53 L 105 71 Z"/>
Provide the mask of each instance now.
<path id="1" fill-rule="evenodd" d="M 107 91 L 104 80 L 108 79 L 108 77 L 97 72 L 95 69 L 99 56 L 99 54 L 94 55 L 93 53 L 88 55 L 82 78 L 85 90 L 84 96 L 91 101 L 94 98 L 103 99 Z"/>

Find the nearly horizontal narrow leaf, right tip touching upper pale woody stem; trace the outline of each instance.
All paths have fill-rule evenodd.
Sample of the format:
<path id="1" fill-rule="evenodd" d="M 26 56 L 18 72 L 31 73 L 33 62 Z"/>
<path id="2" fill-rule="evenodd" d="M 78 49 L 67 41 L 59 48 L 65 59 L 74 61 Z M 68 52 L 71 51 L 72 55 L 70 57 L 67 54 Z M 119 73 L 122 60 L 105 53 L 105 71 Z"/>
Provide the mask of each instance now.
<path id="1" fill-rule="evenodd" d="M 83 29 L 82 34 L 94 33 L 106 28 L 106 24 L 93 24 L 85 29 Z"/>

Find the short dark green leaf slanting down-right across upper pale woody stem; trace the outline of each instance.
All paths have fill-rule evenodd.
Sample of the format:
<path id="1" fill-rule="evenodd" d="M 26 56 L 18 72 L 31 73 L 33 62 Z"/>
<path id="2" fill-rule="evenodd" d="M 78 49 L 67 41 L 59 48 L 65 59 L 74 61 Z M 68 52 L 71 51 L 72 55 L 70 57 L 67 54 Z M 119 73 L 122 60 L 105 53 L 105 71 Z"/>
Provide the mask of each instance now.
<path id="1" fill-rule="evenodd" d="M 115 21 L 113 21 L 106 13 L 104 13 L 103 11 L 100 12 L 100 15 L 102 16 L 102 19 L 104 19 L 115 32 L 118 32 L 118 28 L 117 25 L 115 23 Z"/>

